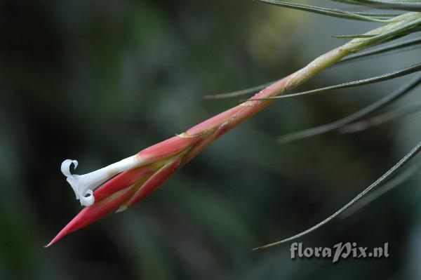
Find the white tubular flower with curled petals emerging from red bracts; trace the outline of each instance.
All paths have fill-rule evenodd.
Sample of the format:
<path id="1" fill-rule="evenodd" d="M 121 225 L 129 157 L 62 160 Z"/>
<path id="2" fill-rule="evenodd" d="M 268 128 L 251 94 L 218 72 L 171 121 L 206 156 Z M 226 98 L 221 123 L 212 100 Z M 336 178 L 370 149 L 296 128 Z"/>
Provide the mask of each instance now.
<path id="1" fill-rule="evenodd" d="M 114 177 L 114 175 L 137 167 L 140 161 L 137 155 L 130 156 L 84 175 L 70 173 L 70 166 L 72 164 L 74 165 L 74 169 L 76 169 L 78 162 L 76 160 L 66 159 L 61 164 L 61 171 L 67 177 L 67 182 L 72 186 L 74 194 L 76 194 L 76 199 L 81 201 L 81 205 L 91 206 L 95 202 L 95 197 L 93 196 L 94 189 Z"/>

